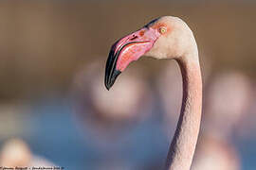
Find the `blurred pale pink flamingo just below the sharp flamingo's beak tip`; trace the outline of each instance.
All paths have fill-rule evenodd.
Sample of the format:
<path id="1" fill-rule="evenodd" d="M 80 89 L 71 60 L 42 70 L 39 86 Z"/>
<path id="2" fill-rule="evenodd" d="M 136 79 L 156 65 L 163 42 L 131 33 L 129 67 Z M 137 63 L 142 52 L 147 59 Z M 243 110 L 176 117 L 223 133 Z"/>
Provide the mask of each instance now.
<path id="1" fill-rule="evenodd" d="M 113 137 L 119 132 L 123 133 L 123 127 L 129 127 L 150 115 L 153 97 L 141 72 L 134 70 L 117 83 L 114 91 L 107 93 L 101 86 L 102 75 L 97 72 L 101 69 L 101 62 L 97 60 L 76 75 L 73 85 L 74 109 L 79 114 L 80 125 L 95 133 L 93 138 L 99 139 L 96 141 L 103 145 L 109 142 L 107 147 L 110 147 L 114 144 Z"/>

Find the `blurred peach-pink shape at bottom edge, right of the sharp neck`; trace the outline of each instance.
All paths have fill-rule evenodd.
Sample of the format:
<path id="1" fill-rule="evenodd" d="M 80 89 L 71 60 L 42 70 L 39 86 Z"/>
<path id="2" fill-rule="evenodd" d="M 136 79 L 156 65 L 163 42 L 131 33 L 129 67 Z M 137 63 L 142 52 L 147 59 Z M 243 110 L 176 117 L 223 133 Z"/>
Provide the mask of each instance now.
<path id="1" fill-rule="evenodd" d="M 192 170 L 240 170 L 240 157 L 234 144 L 203 133 L 198 140 Z"/>

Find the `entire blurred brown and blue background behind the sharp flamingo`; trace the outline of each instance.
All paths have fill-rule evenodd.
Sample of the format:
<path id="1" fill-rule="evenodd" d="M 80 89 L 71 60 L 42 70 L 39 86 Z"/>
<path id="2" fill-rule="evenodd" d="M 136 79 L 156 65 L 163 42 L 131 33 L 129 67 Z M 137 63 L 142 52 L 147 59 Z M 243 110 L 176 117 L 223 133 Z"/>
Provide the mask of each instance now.
<path id="1" fill-rule="evenodd" d="M 110 46 L 162 15 L 198 43 L 202 127 L 192 169 L 256 168 L 256 2 L 1 1 L 0 165 L 150 170 L 181 105 L 174 61 L 139 59 L 110 92 Z"/>

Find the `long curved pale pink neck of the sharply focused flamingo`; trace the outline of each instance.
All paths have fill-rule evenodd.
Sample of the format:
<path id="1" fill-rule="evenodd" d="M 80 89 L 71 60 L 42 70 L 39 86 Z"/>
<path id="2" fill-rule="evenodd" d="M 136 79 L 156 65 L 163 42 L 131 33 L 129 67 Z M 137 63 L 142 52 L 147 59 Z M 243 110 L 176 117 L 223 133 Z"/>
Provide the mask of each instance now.
<path id="1" fill-rule="evenodd" d="M 197 53 L 195 53 L 197 55 Z M 194 56 L 193 56 L 194 57 Z M 202 79 L 198 55 L 176 59 L 183 80 L 183 99 L 174 139 L 169 149 L 166 169 L 189 170 L 201 122 Z"/>

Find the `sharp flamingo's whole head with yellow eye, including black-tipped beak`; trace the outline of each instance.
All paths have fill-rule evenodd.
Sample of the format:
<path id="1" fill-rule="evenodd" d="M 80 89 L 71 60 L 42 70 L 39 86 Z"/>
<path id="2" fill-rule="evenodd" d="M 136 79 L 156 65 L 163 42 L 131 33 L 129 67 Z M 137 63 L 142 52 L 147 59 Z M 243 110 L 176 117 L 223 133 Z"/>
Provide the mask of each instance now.
<path id="1" fill-rule="evenodd" d="M 137 31 L 115 42 L 105 68 L 105 86 L 109 90 L 128 64 L 141 56 L 155 59 L 176 59 L 186 53 L 192 31 L 181 19 L 172 16 L 157 18 Z"/>

